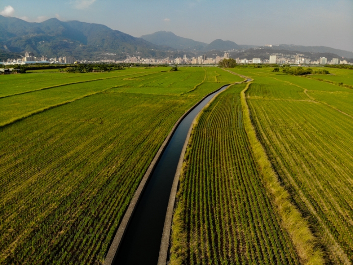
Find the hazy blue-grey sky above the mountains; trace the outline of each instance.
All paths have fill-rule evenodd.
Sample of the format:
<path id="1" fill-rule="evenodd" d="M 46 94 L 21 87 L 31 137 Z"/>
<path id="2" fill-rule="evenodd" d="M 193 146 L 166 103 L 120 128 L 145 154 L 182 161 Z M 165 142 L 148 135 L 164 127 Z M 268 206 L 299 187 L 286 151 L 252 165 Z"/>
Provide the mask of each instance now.
<path id="1" fill-rule="evenodd" d="M 353 0 L 0 0 L 0 14 L 155 31 L 210 43 L 295 44 L 353 51 Z"/>

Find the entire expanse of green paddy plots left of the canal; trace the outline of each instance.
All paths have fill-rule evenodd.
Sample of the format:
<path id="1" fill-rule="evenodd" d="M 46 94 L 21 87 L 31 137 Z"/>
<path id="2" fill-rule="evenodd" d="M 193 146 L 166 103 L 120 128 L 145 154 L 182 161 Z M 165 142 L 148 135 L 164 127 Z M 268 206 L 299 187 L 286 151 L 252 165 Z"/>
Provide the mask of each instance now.
<path id="1" fill-rule="evenodd" d="M 0 76 L 0 264 L 102 264 L 177 119 L 219 68 Z"/>

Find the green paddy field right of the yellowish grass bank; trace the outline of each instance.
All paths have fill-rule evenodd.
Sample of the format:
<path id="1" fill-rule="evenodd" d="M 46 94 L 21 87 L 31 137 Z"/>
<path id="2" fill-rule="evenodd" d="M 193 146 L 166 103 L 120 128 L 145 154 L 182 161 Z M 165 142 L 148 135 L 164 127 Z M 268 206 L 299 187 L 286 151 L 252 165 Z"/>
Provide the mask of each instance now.
<path id="1" fill-rule="evenodd" d="M 329 263 L 352 263 L 353 90 L 272 73 L 254 79 L 247 101 L 279 178 L 308 216 Z"/>

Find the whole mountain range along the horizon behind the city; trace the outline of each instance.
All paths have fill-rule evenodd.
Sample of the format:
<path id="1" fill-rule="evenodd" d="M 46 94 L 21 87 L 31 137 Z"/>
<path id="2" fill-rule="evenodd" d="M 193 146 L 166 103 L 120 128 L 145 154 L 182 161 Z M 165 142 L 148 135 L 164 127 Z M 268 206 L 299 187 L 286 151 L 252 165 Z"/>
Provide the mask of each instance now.
<path id="1" fill-rule="evenodd" d="M 29 23 L 0 15 L 0 60 L 17 58 L 25 51 L 32 52 L 36 56 L 73 56 L 87 60 L 125 59 L 126 55 L 155 58 L 167 56 L 176 58 L 182 57 L 183 54 L 188 57 L 201 54 L 213 56 L 223 55 L 225 51 L 231 52 L 232 56 L 243 53 L 251 56 L 253 53 L 260 57 L 268 57 L 271 51 L 272 53 L 290 51 L 312 54 L 314 57 L 319 53 L 329 53 L 333 54 L 330 56 L 353 58 L 352 52 L 324 46 L 278 45 L 260 49 L 259 46 L 239 45 L 221 39 L 207 44 L 167 31 L 157 31 L 137 38 L 100 24 L 63 22 L 56 18 L 42 23 Z"/>

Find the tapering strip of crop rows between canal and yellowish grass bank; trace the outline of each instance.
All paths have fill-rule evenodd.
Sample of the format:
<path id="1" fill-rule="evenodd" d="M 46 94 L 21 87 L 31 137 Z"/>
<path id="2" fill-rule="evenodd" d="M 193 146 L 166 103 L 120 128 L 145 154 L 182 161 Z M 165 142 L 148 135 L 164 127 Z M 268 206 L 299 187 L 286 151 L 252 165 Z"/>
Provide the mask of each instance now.
<path id="1" fill-rule="evenodd" d="M 194 128 L 174 217 L 186 242 L 173 238 L 171 264 L 300 264 L 253 158 L 242 122 L 244 88 L 220 94 Z"/>

